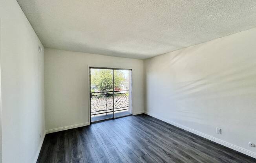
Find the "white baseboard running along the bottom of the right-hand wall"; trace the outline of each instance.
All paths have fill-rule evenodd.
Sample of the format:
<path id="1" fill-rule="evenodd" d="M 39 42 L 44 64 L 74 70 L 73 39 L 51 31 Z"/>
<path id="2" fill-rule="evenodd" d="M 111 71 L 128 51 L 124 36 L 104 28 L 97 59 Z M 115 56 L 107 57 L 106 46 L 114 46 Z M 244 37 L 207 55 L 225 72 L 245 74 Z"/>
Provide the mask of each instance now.
<path id="1" fill-rule="evenodd" d="M 187 131 L 189 131 L 189 132 L 192 132 L 192 133 L 194 133 L 194 134 L 196 134 L 196 135 L 198 135 L 198 136 L 201 136 L 201 137 L 203 137 L 203 138 L 206 138 L 206 139 L 209 139 L 209 140 L 211 140 L 211 141 L 214 141 L 215 143 L 221 144 L 221 145 L 223 145 L 223 146 L 225 146 L 225 147 L 228 147 L 228 148 L 230 148 L 230 149 L 236 150 L 236 151 L 238 151 L 238 152 L 241 152 L 241 153 L 243 153 L 243 154 L 246 154 L 246 155 L 248 155 L 248 156 L 251 156 L 251 157 L 253 157 L 253 158 L 256 158 L 256 153 L 255 153 L 255 152 L 252 152 L 252 151 L 250 151 L 250 150 L 244 149 L 244 148 L 239 147 L 239 146 L 237 146 L 237 145 L 231 144 L 231 143 L 229 143 L 229 142 L 227 142 L 227 141 L 224 141 L 224 140 L 215 138 L 215 137 L 213 137 L 213 136 L 204 134 L 203 132 L 199 132 L 199 131 L 197 131 L 197 130 L 190 129 L 189 127 L 183 126 L 183 125 L 181 125 L 181 124 L 179 124 L 179 123 L 176 123 L 176 122 L 167 120 L 167 119 L 165 119 L 165 118 L 161 118 L 161 117 L 159 117 L 159 116 L 157 116 L 157 115 L 155 115 L 155 114 L 152 114 L 152 113 L 150 113 L 150 112 L 146 112 L 146 111 L 145 111 L 144 113 L 145 113 L 145 114 L 148 114 L 148 115 L 150 115 L 150 116 L 152 116 L 152 117 L 155 117 L 155 118 L 157 118 L 157 119 L 159 119 L 159 120 L 165 121 L 166 123 L 169 123 L 169 124 L 171 124 L 171 125 L 174 125 L 174 126 L 176 126 L 176 127 L 179 127 L 179 128 L 181 128 L 181 129 L 184 129 L 184 130 L 187 130 Z"/>

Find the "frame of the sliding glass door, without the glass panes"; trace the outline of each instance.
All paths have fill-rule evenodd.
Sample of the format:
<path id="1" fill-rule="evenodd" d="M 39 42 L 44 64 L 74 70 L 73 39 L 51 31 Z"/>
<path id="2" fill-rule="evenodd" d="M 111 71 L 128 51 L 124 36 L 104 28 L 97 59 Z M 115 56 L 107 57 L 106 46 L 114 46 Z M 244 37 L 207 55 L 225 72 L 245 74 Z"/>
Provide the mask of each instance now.
<path id="1" fill-rule="evenodd" d="M 99 122 L 99 121 L 93 121 L 91 122 L 91 69 L 108 69 L 108 70 L 112 70 L 113 71 L 113 78 L 112 78 L 112 83 L 113 83 L 113 88 L 112 88 L 112 91 L 113 91 L 113 117 L 112 118 L 108 118 L 108 119 L 104 119 L 104 120 L 99 120 L 99 121 L 105 121 L 105 120 L 112 120 L 112 119 L 116 119 L 115 118 L 115 103 L 114 103 L 114 70 L 128 70 L 128 71 L 131 71 L 131 79 L 129 78 L 129 82 L 131 82 L 131 84 L 129 83 L 129 94 L 131 93 L 131 97 L 132 97 L 132 69 L 126 69 L 126 68 L 113 68 L 113 67 L 99 67 L 99 66 L 90 66 L 88 65 L 88 108 L 89 108 L 89 123 L 96 123 L 96 122 Z M 129 76 L 130 77 L 130 76 Z M 131 86 L 131 88 L 130 88 Z M 132 104 L 132 98 L 129 98 L 129 110 L 131 109 L 132 110 L 132 105 L 130 106 L 130 100 L 131 100 L 131 104 Z M 132 115 L 132 112 L 131 114 L 129 115 L 125 115 L 125 116 L 130 116 Z M 121 117 L 125 117 L 125 116 L 120 116 L 120 117 L 117 117 L 117 118 L 121 118 Z"/>

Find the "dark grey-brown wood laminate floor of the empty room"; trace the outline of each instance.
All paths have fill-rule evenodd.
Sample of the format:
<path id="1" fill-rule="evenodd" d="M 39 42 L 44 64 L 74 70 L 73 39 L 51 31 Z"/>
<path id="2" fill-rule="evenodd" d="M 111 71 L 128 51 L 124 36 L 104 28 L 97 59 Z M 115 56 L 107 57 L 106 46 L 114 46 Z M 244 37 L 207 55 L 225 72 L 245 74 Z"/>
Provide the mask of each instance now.
<path id="1" fill-rule="evenodd" d="M 37 163 L 256 163 L 146 114 L 46 134 Z"/>

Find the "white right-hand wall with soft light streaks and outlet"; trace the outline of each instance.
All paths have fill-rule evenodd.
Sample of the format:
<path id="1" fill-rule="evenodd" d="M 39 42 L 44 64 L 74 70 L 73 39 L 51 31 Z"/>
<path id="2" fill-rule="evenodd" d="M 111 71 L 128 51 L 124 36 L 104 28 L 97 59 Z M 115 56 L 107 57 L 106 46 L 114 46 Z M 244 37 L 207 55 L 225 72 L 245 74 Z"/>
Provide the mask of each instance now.
<path id="1" fill-rule="evenodd" d="M 256 28 L 145 60 L 145 112 L 255 158 L 255 43 Z"/>

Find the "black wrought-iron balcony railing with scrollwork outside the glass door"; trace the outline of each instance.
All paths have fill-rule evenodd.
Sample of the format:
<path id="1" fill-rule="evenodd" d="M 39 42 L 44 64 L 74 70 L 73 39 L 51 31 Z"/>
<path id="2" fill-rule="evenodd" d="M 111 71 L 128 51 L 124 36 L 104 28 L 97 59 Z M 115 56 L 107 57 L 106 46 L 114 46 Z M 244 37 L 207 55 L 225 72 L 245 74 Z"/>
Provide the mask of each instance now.
<path id="1" fill-rule="evenodd" d="M 91 116 L 129 109 L 129 91 L 91 92 Z"/>

